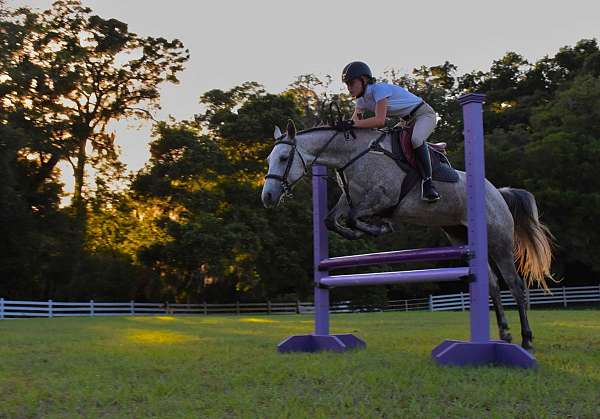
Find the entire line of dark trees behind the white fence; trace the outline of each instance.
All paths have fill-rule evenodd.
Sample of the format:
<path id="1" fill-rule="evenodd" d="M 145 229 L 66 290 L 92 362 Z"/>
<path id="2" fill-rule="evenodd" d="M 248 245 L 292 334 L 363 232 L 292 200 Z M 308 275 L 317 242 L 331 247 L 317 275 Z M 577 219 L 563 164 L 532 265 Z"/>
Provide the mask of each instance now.
<path id="1" fill-rule="evenodd" d="M 1 6 L 1 3 L 0 3 Z M 79 0 L 48 10 L 0 8 L 0 295 L 178 302 L 309 299 L 310 185 L 277 211 L 260 189 L 276 124 L 308 128 L 351 98 L 331 78 L 299 76 L 281 93 L 256 82 L 200 96 L 191 120 L 155 121 L 150 159 L 127 174 L 111 122 L 151 119 L 159 87 L 177 83 L 189 52 L 144 37 Z M 444 62 L 378 79 L 405 86 L 440 116 L 432 141 L 463 167 L 456 98 L 483 92 L 486 174 L 535 194 L 556 237 L 553 272 L 567 285 L 600 271 L 600 49 L 582 39 L 529 62 L 515 52 L 489 70 Z M 199 92 L 200 93 L 200 92 Z M 69 205 L 59 164 L 75 178 Z M 94 169 L 95 181 L 86 176 Z M 337 187 L 330 188 L 335 199 Z M 332 254 L 446 244 L 436 230 L 360 241 L 330 236 Z M 336 290 L 356 301 L 417 297 L 456 285 Z"/>

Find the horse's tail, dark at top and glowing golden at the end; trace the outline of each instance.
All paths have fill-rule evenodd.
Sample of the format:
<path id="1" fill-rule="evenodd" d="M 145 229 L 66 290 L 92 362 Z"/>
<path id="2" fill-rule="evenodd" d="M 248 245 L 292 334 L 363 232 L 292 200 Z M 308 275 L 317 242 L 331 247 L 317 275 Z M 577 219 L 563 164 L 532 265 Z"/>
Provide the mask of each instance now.
<path id="1" fill-rule="evenodd" d="M 524 189 L 501 188 L 515 224 L 514 255 L 519 274 L 528 287 L 537 282 L 548 290 L 546 278 L 552 278 L 550 264 L 554 236 L 539 220 L 535 197 Z"/>

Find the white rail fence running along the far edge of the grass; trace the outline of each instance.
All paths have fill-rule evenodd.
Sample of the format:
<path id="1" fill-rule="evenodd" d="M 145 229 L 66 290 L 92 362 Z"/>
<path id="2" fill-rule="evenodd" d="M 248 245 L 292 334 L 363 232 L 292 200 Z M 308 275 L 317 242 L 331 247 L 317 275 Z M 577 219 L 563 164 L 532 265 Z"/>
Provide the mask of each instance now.
<path id="1" fill-rule="evenodd" d="M 551 293 L 543 290 L 527 292 L 529 307 L 554 304 L 569 307 L 574 304 L 600 302 L 600 284 L 587 287 L 551 288 Z M 502 291 L 502 304 L 515 306 L 509 291 Z M 490 306 L 492 305 L 490 300 Z M 333 313 L 361 311 L 447 311 L 468 310 L 469 294 L 432 295 L 429 298 L 412 300 L 391 300 L 384 306 L 352 304 L 344 301 L 331 305 Z M 143 316 L 177 314 L 291 314 L 312 313 L 312 302 L 270 302 L 233 304 L 169 304 L 169 303 L 126 303 L 108 302 L 60 302 L 60 301 L 12 301 L 0 298 L 0 319 L 17 317 L 64 317 L 64 316 Z"/>

